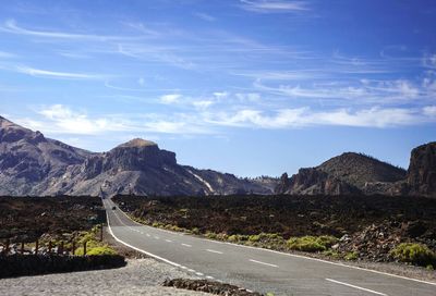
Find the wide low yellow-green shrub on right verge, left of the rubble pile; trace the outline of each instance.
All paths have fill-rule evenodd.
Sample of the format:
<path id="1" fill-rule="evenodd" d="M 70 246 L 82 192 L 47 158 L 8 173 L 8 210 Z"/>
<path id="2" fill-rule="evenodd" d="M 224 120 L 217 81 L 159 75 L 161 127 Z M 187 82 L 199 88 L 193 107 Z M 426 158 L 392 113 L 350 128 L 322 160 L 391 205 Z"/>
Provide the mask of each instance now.
<path id="1" fill-rule="evenodd" d="M 302 236 L 288 239 L 288 247 L 293 250 L 302 251 L 325 251 L 338 242 L 334 236 Z"/>

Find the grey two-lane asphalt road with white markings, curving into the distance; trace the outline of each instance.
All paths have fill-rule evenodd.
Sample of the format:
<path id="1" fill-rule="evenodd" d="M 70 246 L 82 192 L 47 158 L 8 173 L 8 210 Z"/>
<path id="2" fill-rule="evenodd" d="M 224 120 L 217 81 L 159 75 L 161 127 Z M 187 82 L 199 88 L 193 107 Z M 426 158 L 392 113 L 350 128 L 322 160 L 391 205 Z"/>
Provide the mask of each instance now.
<path id="1" fill-rule="evenodd" d="M 436 283 L 141 225 L 104 199 L 114 238 L 199 276 L 274 295 L 436 295 Z"/>

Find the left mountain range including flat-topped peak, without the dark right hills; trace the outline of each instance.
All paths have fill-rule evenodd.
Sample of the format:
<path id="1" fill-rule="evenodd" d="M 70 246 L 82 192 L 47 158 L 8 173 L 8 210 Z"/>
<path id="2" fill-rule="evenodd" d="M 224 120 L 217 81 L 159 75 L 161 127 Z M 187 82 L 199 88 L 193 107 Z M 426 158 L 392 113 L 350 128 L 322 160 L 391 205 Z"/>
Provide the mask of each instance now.
<path id="1" fill-rule="evenodd" d="M 0 119 L 0 195 L 270 194 L 232 174 L 177 163 L 175 153 L 144 139 L 93 153 Z"/>

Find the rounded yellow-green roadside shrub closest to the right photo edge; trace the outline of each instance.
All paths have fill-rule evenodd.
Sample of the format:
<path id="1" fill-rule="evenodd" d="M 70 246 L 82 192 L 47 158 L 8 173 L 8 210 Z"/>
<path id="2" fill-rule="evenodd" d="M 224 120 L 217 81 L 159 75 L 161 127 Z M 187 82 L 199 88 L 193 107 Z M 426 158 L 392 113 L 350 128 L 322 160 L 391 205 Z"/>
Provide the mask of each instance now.
<path id="1" fill-rule="evenodd" d="M 401 262 L 421 267 L 436 266 L 436 254 L 422 244 L 402 243 L 395 247 L 390 255 Z"/>

